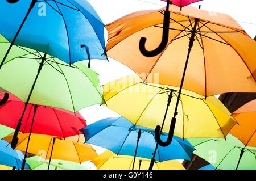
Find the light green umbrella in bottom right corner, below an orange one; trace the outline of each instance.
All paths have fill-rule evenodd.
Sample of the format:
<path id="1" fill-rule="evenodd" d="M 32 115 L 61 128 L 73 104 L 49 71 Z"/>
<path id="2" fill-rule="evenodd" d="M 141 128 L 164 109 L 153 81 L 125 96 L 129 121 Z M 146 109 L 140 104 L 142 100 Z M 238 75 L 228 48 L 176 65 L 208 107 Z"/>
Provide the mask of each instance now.
<path id="1" fill-rule="evenodd" d="M 238 138 L 228 134 L 220 138 L 188 139 L 196 151 L 193 153 L 205 159 L 220 170 L 255 170 L 256 148 L 247 147 Z"/>

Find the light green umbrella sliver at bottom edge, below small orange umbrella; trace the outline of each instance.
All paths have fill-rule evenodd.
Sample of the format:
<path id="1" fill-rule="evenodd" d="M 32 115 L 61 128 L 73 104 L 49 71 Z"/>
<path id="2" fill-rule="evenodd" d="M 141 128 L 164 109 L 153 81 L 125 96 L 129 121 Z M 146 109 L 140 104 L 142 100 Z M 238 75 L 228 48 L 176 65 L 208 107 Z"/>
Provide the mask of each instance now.
<path id="1" fill-rule="evenodd" d="M 32 170 L 88 170 L 80 163 L 52 159 L 49 169 L 49 160 L 34 156 L 26 159 Z"/>

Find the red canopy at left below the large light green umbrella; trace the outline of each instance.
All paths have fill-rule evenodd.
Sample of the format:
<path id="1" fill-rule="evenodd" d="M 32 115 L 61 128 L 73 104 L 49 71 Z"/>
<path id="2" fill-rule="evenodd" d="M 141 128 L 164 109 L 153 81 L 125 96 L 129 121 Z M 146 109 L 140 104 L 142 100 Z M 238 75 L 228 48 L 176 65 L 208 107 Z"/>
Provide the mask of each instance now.
<path id="1" fill-rule="evenodd" d="M 0 93 L 0 100 L 3 95 L 4 93 Z M 24 106 L 25 104 L 21 100 L 9 94 L 7 103 L 0 106 L 0 124 L 16 128 Z M 33 123 L 32 133 L 65 138 L 81 134 L 79 133 L 79 129 L 86 127 L 85 120 L 79 112 L 76 112 L 76 115 L 74 115 L 71 111 L 37 106 L 34 121 L 32 121 L 34 111 L 35 105 L 28 104 L 20 132 L 30 133 L 31 124 Z M 11 130 L 8 132 L 10 134 Z"/>

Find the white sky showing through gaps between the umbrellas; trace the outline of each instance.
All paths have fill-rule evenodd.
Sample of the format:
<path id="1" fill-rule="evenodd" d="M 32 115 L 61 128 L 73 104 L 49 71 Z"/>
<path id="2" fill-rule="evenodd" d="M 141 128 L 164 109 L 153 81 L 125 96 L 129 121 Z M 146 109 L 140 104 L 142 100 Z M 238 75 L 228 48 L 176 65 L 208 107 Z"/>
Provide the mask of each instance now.
<path id="1" fill-rule="evenodd" d="M 160 0 L 88 0 L 100 15 L 105 24 L 121 18 L 131 12 L 160 9 L 166 6 L 166 2 Z M 194 3 L 192 6 L 201 9 L 222 12 L 232 16 L 240 23 L 244 30 L 254 38 L 256 35 L 256 0 L 204 0 Z M 247 23 L 243 23 L 247 22 Z M 112 60 L 104 62 L 102 60 L 92 61 L 92 68 L 100 74 L 101 85 L 113 81 L 114 79 L 134 73 L 125 65 Z M 80 111 L 87 121 L 87 124 L 106 117 L 117 117 L 118 114 L 104 106 L 91 106 Z M 102 149 L 97 149 L 101 153 Z"/>

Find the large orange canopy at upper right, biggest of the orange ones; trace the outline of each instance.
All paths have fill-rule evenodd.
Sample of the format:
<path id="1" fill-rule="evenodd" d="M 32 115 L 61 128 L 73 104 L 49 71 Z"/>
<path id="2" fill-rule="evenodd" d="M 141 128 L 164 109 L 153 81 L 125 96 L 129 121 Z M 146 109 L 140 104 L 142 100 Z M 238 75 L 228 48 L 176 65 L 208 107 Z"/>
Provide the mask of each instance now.
<path id="1" fill-rule="evenodd" d="M 188 6 L 180 11 L 171 5 L 167 46 L 157 56 L 143 56 L 141 37 L 147 39 L 147 50 L 158 47 L 162 39 L 164 10 L 134 12 L 107 24 L 108 56 L 129 66 L 143 81 L 180 87 L 195 27 L 183 88 L 203 96 L 256 92 L 256 42 L 225 14 L 213 16 Z"/>

